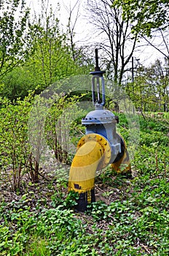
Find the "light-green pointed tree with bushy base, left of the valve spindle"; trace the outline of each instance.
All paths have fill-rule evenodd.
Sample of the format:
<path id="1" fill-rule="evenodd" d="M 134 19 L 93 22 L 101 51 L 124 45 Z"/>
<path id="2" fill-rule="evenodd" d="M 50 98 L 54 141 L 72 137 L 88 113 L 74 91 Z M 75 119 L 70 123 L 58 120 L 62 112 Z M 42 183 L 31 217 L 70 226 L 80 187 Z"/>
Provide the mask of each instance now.
<path id="1" fill-rule="evenodd" d="M 89 72 L 89 59 L 81 49 L 76 50 L 76 61 L 72 58 L 68 35 L 61 31 L 55 12 L 46 2 L 42 0 L 42 11 L 29 24 L 28 58 L 1 78 L 1 97 L 24 99 L 30 90 L 39 94 L 57 80 Z"/>

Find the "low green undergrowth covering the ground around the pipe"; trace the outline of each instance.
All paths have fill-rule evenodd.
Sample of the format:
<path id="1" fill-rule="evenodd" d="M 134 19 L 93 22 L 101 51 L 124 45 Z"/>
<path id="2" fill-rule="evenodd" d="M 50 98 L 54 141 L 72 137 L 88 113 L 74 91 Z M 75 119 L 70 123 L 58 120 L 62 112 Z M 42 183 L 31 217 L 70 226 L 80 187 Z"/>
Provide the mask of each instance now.
<path id="1" fill-rule="evenodd" d="M 141 117 L 140 125 L 133 179 L 104 170 L 95 179 L 103 200 L 85 213 L 74 211 L 77 195 L 63 181 L 39 200 L 28 191 L 1 201 L 0 255 L 168 255 L 168 122 Z"/>

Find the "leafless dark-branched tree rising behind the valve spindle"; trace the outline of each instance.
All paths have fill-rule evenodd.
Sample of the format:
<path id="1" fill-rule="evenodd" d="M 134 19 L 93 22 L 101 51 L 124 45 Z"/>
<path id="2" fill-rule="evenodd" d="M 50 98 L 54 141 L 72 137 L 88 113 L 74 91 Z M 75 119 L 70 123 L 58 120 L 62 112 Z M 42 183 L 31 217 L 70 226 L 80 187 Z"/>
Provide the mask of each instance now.
<path id="1" fill-rule="evenodd" d="M 125 67 L 135 49 L 137 34 L 131 34 L 129 19 L 122 20 L 122 8 L 114 7 L 114 0 L 87 0 L 90 22 L 100 34 L 97 45 L 106 64 L 109 78 L 121 85 Z M 98 37 L 96 37 L 98 38 Z"/>

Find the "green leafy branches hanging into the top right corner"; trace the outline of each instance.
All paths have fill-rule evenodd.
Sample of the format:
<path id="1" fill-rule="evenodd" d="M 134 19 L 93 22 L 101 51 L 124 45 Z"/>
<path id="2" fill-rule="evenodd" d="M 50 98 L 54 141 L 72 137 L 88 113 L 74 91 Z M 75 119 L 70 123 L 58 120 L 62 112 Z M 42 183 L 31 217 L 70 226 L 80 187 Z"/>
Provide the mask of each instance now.
<path id="1" fill-rule="evenodd" d="M 122 7 L 124 20 L 130 20 L 136 34 L 151 37 L 153 29 L 168 28 L 168 0 L 115 0 L 114 6 Z"/>

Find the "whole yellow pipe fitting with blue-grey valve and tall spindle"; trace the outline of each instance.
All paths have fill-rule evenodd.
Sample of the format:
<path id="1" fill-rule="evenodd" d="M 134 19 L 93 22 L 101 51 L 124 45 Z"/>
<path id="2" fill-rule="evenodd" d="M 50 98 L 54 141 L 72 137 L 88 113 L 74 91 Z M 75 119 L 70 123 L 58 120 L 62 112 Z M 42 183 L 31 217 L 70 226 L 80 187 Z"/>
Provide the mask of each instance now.
<path id="1" fill-rule="evenodd" d="M 92 95 L 95 110 L 82 118 L 86 135 L 77 144 L 68 178 L 68 191 L 79 193 L 76 211 L 86 211 L 87 204 L 95 202 L 96 171 L 111 164 L 117 173 L 131 172 L 125 140 L 116 131 L 119 118 L 104 108 L 103 73 L 105 72 L 98 67 L 98 49 L 95 49 L 95 71 L 90 72 L 93 75 Z"/>

